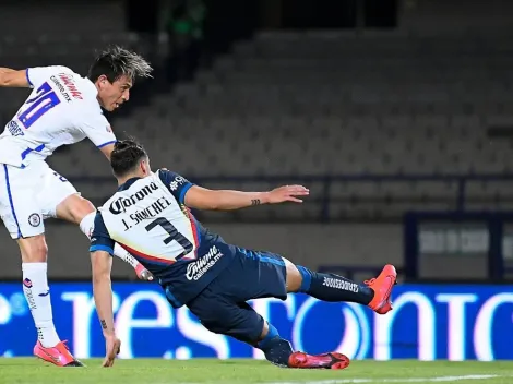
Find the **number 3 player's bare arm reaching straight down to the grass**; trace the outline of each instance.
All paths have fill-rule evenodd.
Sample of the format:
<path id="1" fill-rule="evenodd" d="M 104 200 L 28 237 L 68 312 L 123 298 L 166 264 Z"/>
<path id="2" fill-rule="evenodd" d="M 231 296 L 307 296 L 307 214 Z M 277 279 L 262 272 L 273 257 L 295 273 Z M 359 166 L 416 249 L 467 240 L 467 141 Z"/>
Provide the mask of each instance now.
<path id="1" fill-rule="evenodd" d="M 119 353 L 121 341 L 116 337 L 112 311 L 112 288 L 110 285 L 110 271 L 112 257 L 106 251 L 91 252 L 93 269 L 93 293 L 98 313 L 102 331 L 105 336 L 105 360 L 103 367 L 112 367 Z"/>

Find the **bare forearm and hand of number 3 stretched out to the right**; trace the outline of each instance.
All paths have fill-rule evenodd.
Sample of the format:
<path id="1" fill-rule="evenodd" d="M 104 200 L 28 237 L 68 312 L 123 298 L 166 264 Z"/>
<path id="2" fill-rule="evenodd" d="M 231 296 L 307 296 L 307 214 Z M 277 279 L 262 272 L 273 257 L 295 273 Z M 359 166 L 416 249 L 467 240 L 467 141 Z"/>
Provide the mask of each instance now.
<path id="1" fill-rule="evenodd" d="M 192 185 L 186 193 L 187 206 L 196 209 L 232 211 L 260 204 L 302 203 L 310 191 L 302 185 L 284 185 L 269 192 L 208 190 Z"/>

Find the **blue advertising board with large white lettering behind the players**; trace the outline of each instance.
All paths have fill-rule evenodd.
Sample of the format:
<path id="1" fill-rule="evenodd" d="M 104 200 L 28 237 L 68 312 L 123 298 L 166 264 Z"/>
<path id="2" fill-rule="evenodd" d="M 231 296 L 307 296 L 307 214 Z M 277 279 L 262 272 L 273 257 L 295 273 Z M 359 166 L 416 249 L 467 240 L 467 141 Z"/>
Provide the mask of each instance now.
<path id="1" fill-rule="evenodd" d="M 215 251 L 208 254 L 214 260 Z M 206 331 L 186 307 L 174 310 L 157 285 L 112 286 L 121 358 L 263 358 L 260 350 Z M 57 328 L 70 339 L 74 355 L 102 357 L 105 341 L 91 284 L 50 288 Z M 0 356 L 31 356 L 36 332 L 20 286 L 0 284 Z M 399 285 L 394 310 L 383 316 L 355 303 L 326 303 L 305 295 L 251 304 L 295 349 L 311 353 L 490 361 L 513 359 L 512 292 L 512 286 Z"/>

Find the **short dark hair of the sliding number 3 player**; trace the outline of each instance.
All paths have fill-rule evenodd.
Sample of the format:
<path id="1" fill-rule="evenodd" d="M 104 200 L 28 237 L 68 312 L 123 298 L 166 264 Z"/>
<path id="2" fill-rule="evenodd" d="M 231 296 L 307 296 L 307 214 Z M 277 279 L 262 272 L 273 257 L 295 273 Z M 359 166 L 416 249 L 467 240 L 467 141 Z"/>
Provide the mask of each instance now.
<path id="1" fill-rule="evenodd" d="M 116 177 L 123 177 L 134 170 L 144 158 L 147 158 L 146 151 L 135 139 L 120 140 L 110 154 L 110 167 Z"/>

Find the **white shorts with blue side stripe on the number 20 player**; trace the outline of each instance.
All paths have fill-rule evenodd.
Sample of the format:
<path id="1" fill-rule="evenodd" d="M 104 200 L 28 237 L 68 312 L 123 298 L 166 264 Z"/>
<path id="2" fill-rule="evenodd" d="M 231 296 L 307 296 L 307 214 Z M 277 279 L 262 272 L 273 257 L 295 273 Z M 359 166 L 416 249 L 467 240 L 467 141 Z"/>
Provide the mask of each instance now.
<path id="1" fill-rule="evenodd" d="M 0 164 L 0 217 L 13 239 L 44 233 L 44 219 L 56 217 L 57 206 L 75 193 L 45 161 L 25 168 Z"/>

